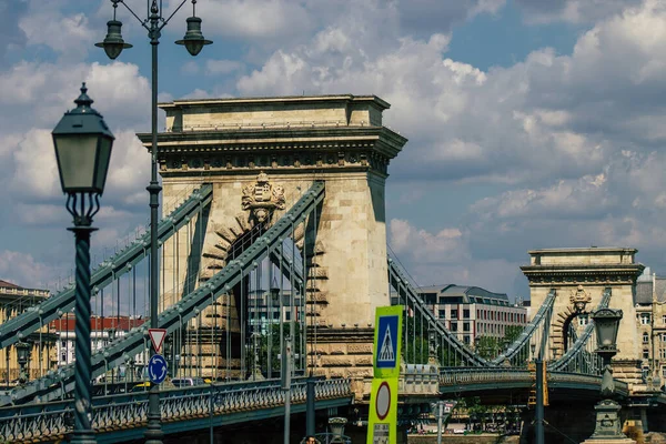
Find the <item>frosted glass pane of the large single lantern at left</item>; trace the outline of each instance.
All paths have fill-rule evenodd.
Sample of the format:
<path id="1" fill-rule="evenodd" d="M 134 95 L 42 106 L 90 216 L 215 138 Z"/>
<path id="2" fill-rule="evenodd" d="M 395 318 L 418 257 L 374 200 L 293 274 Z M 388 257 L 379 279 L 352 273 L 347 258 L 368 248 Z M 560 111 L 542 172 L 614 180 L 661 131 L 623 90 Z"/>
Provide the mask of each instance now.
<path id="1" fill-rule="evenodd" d="M 93 186 L 97 137 L 58 135 L 56 150 L 62 191 L 87 191 Z"/>

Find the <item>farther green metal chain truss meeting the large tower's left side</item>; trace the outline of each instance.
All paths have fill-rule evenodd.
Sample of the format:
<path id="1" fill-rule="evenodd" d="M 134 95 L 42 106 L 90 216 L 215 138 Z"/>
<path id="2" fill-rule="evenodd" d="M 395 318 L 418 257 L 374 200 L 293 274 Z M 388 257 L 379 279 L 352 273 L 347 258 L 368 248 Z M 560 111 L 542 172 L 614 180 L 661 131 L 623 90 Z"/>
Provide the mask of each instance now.
<path id="1" fill-rule="evenodd" d="M 169 216 L 158 225 L 158 241 L 163 243 L 180 228 L 185 225 L 202 208 L 213 199 L 213 186 L 203 184 L 181 203 Z M 132 242 L 128 248 L 102 262 L 92 270 L 91 286 L 99 291 L 132 270 L 139 261 L 150 254 L 150 233 Z M 62 316 L 74 307 L 74 284 L 44 300 L 41 304 L 28 310 L 0 325 L 0 349 L 19 342 L 23 337 L 41 329 L 49 322 Z"/>

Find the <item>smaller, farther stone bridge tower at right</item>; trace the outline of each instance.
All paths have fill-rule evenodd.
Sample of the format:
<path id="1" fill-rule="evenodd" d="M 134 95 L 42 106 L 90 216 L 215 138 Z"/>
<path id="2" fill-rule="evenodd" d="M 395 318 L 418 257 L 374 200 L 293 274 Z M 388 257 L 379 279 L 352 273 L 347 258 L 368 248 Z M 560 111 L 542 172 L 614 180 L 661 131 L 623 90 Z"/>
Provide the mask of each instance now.
<path id="1" fill-rule="evenodd" d="M 591 313 L 606 287 L 612 289 L 609 307 L 620 309 L 623 319 L 617 334 L 619 353 L 613 360 L 615 377 L 638 382 L 640 347 L 636 329 L 636 279 L 644 266 L 634 261 L 637 250 L 620 248 L 547 249 L 529 251 L 529 265 L 521 266 L 529 280 L 532 314 L 543 304 L 551 289 L 556 299 L 551 319 L 551 350 L 561 356 L 569 323 Z M 579 312 L 575 304 L 583 306 Z"/>

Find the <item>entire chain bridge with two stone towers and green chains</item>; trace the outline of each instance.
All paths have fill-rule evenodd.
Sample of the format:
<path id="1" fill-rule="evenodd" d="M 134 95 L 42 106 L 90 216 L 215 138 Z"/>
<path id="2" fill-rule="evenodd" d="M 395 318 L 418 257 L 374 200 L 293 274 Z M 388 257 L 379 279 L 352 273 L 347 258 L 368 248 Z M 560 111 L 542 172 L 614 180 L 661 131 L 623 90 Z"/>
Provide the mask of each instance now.
<path id="1" fill-rule="evenodd" d="M 440 322 L 387 252 L 384 184 L 391 159 L 407 142 L 382 124 L 389 107 L 355 95 L 161 104 L 159 256 L 150 256 L 149 234 L 139 235 L 94 268 L 91 282 L 97 315 L 107 307 L 108 316 L 120 317 L 123 306 L 124 315 L 135 316 L 144 313 L 137 305 L 149 263 L 159 262 L 159 325 L 170 340 L 170 375 L 204 382 L 161 391 L 167 434 L 281 416 L 287 336 L 295 351 L 295 412 L 304 411 L 307 375 L 316 377 L 317 410 L 344 415 L 366 404 L 374 312 L 392 301 L 405 307 L 404 405 L 466 395 L 526 404 L 528 363 L 537 356 L 547 362 L 554 398 L 599 396 L 593 322 L 576 327 L 572 320 L 595 307 L 622 307 L 620 334 L 632 337 L 630 289 L 639 272 L 633 255 L 576 268 L 562 254 L 531 252 L 523 271 L 538 310 L 513 343 L 494 356 L 480 354 Z M 149 144 L 148 134 L 139 138 Z M 39 346 L 42 332 L 73 306 L 69 285 L 14 313 L 0 325 L 0 347 L 8 354 L 19 341 Z M 92 356 L 99 442 L 143 434 L 148 393 L 130 386 L 145 374 L 133 369 L 121 380 L 120 369 L 127 373 L 145 356 L 147 333 L 141 323 L 107 335 Z M 624 351 L 614 363 L 618 396 L 664 403 L 640 385 L 637 352 Z M 120 383 L 109 383 L 113 375 Z M 11 389 L 0 407 L 0 435 L 11 442 L 62 438 L 73 425 L 73 386 L 70 363 Z"/>

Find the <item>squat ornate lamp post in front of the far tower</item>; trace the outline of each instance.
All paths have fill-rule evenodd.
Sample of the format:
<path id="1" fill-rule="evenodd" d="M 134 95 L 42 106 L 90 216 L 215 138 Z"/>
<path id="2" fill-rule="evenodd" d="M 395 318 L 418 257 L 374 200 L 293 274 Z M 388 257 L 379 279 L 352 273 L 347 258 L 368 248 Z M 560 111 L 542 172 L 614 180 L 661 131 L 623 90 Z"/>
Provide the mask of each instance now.
<path id="1" fill-rule="evenodd" d="M 613 370 L 610 369 L 610 360 L 618 352 L 617 331 L 619 321 L 622 320 L 622 310 L 599 309 L 592 313 L 594 327 L 597 337 L 597 350 L 595 352 L 602 356 L 604 361 L 604 375 L 602 377 L 602 400 L 595 405 L 596 426 L 592 436 L 585 443 L 606 442 L 606 440 L 616 440 L 614 443 L 633 443 L 622 433 L 619 422 L 620 406 L 615 401 L 610 400 L 615 394 L 615 382 L 613 380 Z"/>

